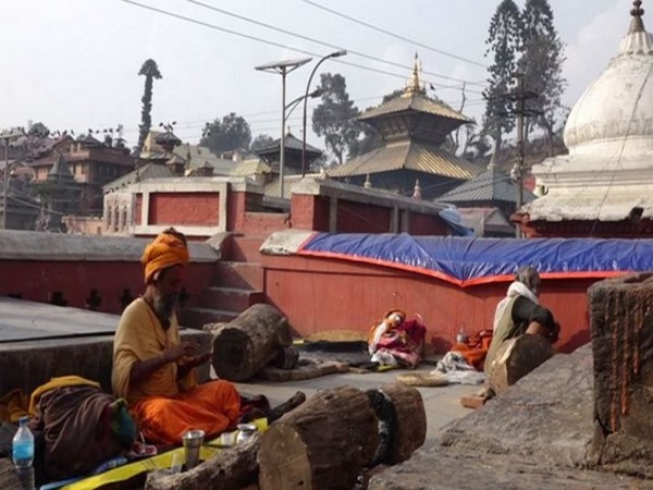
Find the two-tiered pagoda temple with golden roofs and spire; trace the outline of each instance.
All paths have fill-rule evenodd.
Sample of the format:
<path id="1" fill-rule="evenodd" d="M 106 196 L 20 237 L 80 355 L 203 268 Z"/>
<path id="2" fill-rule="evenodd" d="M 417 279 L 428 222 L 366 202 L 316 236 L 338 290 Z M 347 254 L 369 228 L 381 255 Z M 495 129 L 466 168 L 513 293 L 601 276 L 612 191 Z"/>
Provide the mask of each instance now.
<path id="1" fill-rule="evenodd" d="M 472 120 L 427 96 L 417 60 L 404 93 L 358 119 L 379 131 L 383 146 L 329 170 L 331 179 L 408 197 L 419 180 L 421 197 L 432 199 L 483 171 L 444 148 L 447 136 Z"/>

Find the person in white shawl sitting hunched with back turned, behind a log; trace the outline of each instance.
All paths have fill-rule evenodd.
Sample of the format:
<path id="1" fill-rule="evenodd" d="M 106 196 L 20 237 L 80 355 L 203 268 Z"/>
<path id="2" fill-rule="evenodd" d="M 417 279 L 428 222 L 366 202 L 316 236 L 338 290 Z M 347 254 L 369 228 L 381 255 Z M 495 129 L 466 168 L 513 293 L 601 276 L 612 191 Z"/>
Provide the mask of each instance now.
<path id="1" fill-rule="evenodd" d="M 515 282 L 508 287 L 494 313 L 494 334 L 485 356 L 485 373 L 490 373 L 492 362 L 501 345 L 518 335 L 540 334 L 551 343 L 558 338 L 559 327 L 547 308 L 540 306 L 540 273 L 530 266 L 517 270 Z"/>

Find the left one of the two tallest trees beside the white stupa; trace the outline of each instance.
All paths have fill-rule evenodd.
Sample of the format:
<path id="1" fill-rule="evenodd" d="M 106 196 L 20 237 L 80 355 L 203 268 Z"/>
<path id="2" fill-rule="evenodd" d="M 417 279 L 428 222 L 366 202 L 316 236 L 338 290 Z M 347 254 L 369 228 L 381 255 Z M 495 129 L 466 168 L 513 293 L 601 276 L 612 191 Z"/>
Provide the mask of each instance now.
<path id="1" fill-rule="evenodd" d="M 483 93 L 488 100 L 483 117 L 483 133 L 494 139 L 493 157 L 498 156 L 503 135 L 515 127 L 515 120 L 509 117 L 515 110 L 515 102 L 506 96 L 515 90 L 519 35 L 519 9 L 513 0 L 503 0 L 490 21 L 485 40 L 488 45 L 485 56 L 493 53 L 493 63 L 488 69 L 489 87 Z"/>

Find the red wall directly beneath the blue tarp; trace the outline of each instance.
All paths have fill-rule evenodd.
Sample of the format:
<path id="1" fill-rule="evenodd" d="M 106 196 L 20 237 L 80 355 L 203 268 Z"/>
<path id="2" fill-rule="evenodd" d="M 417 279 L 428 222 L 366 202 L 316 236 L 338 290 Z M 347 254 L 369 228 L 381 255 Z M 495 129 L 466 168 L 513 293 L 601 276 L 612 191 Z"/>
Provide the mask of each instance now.
<path id="1" fill-rule="evenodd" d="M 298 334 L 325 330 L 367 333 L 391 308 L 419 314 L 431 352 L 448 351 L 464 326 L 467 333 L 492 328 L 494 309 L 508 283 L 458 287 L 427 275 L 298 256 L 261 257 L 268 302 L 288 317 Z M 571 352 L 589 342 L 587 289 L 595 281 L 544 280 L 541 302 L 560 322 L 556 348 Z"/>

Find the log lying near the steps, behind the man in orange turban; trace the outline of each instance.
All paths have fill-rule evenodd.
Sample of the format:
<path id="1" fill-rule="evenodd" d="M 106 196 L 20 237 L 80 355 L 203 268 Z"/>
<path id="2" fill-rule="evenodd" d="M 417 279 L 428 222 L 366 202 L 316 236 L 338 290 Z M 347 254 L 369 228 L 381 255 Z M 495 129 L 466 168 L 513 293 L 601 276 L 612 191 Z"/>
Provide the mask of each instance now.
<path id="1" fill-rule="evenodd" d="M 270 305 L 250 306 L 215 332 L 211 364 L 230 381 L 247 381 L 293 343 L 288 320 Z"/>

